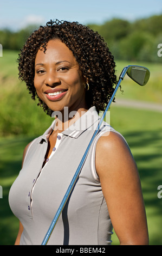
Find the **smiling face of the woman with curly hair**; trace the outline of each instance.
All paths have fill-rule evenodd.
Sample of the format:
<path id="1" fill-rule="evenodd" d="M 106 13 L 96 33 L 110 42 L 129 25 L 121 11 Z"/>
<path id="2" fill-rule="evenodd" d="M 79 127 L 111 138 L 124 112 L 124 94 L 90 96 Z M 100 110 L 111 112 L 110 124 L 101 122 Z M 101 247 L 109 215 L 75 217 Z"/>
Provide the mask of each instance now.
<path id="1" fill-rule="evenodd" d="M 72 51 L 60 40 L 50 40 L 35 59 L 34 86 L 38 97 L 52 111 L 86 108 L 85 83 Z"/>

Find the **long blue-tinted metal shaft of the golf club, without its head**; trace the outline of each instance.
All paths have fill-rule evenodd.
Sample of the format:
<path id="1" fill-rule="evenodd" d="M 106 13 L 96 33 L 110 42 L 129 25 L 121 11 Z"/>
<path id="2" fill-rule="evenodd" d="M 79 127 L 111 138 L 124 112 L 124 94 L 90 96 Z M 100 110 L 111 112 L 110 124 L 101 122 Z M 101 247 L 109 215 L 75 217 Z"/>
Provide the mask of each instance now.
<path id="1" fill-rule="evenodd" d="M 116 92 L 117 92 L 117 90 L 118 90 L 118 88 L 119 88 L 119 86 L 120 86 L 121 81 L 123 80 L 123 78 L 124 78 L 124 76 L 125 76 L 125 74 L 126 74 L 127 69 L 128 69 L 128 66 L 126 66 L 126 67 L 122 70 L 122 72 L 121 72 L 121 75 L 120 75 L 120 77 L 119 77 L 119 81 L 118 81 L 118 83 L 116 84 L 116 87 L 115 87 L 115 89 L 114 89 L 113 95 L 111 96 L 111 99 L 109 100 L 108 105 L 107 105 L 105 111 L 104 111 L 103 114 L 102 114 L 102 117 L 101 117 L 101 119 L 100 119 L 100 121 L 99 121 L 98 127 L 96 128 L 96 130 L 95 130 L 95 132 L 94 132 L 94 134 L 93 134 L 93 137 L 90 139 L 90 142 L 89 142 L 88 147 L 87 147 L 87 149 L 86 149 L 86 151 L 85 151 L 85 154 L 83 155 L 82 160 L 81 160 L 79 166 L 77 167 L 77 170 L 76 170 L 76 172 L 75 172 L 75 174 L 74 174 L 74 176 L 73 176 L 72 181 L 70 182 L 70 185 L 69 185 L 69 187 L 68 187 L 68 190 L 67 190 L 66 194 L 64 195 L 64 198 L 63 198 L 63 200 L 62 200 L 62 202 L 61 202 L 61 204 L 60 204 L 60 207 L 59 207 L 59 209 L 57 210 L 56 215 L 55 215 L 53 221 L 51 222 L 50 227 L 49 227 L 49 229 L 48 229 L 48 231 L 47 231 L 47 234 L 46 234 L 46 236 L 44 237 L 44 239 L 43 239 L 43 241 L 42 241 L 42 245 L 47 245 L 47 242 L 48 242 L 48 240 L 49 240 L 49 238 L 50 238 L 50 235 L 51 235 L 51 233 L 52 233 L 52 231 L 53 231 L 53 229 L 54 229 L 54 227 L 55 227 L 55 225 L 56 225 L 56 222 L 57 222 L 57 220 L 58 220 L 59 217 L 60 217 L 60 214 L 61 214 L 61 212 L 62 212 L 62 210 L 63 210 L 63 208 L 64 208 L 64 205 L 66 204 L 66 202 L 67 202 L 67 200 L 68 200 L 68 198 L 69 198 L 70 192 L 72 191 L 72 189 L 73 189 L 73 187 L 74 187 L 74 185 L 75 185 L 75 183 L 76 183 L 76 180 L 77 180 L 77 178 L 78 178 L 78 176 L 79 176 L 79 174 L 80 174 L 80 172 L 81 172 L 82 166 L 83 166 L 83 164 L 85 163 L 85 160 L 86 160 L 88 151 L 89 151 L 89 149 L 90 149 L 90 146 L 92 145 L 92 142 L 93 142 L 93 140 L 94 140 L 96 134 L 98 133 L 101 124 L 103 123 L 103 119 L 105 118 L 105 115 L 106 115 L 106 113 L 107 113 L 107 111 L 108 111 L 108 109 L 109 109 L 109 107 L 110 107 L 110 105 L 111 105 L 111 103 L 112 103 L 112 101 L 113 101 L 113 99 L 114 99 L 114 96 L 115 96 L 115 94 L 116 94 Z"/>

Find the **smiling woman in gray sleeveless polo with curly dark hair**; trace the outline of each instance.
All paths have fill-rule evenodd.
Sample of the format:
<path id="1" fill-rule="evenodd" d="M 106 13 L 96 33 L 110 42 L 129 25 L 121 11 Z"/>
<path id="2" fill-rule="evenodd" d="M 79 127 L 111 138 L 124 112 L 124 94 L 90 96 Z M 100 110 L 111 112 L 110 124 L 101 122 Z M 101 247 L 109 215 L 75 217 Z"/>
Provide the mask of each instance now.
<path id="1" fill-rule="evenodd" d="M 20 220 L 15 245 L 41 245 L 116 83 L 115 63 L 98 33 L 50 21 L 25 43 L 20 78 L 55 120 L 24 150 L 9 202 Z M 137 166 L 125 139 L 104 123 L 48 245 L 147 245 Z"/>

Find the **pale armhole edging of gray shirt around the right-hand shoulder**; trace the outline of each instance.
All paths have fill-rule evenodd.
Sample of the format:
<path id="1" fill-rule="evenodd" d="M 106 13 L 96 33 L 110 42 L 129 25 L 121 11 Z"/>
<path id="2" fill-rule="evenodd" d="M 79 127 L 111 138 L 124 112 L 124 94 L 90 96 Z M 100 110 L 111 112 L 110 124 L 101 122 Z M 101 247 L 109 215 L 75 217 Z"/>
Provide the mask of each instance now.
<path id="1" fill-rule="evenodd" d="M 94 143 L 93 143 L 93 147 L 92 147 L 92 153 L 91 153 L 91 156 L 90 156 L 90 172 L 91 172 L 91 174 L 92 174 L 93 179 L 94 179 L 96 182 L 98 182 L 98 183 L 100 183 L 100 179 L 99 179 L 98 173 L 96 172 L 96 167 L 95 167 L 96 144 L 98 143 L 99 138 L 100 138 L 102 135 L 104 135 L 104 133 L 106 133 L 106 132 L 115 132 L 115 133 L 118 133 L 118 134 L 124 139 L 124 141 L 126 142 L 125 138 L 121 135 L 121 133 L 118 132 L 118 131 L 115 131 L 113 128 L 110 129 L 109 131 L 108 131 L 108 130 L 104 130 L 104 131 L 100 132 L 99 135 L 96 136 L 95 141 L 94 141 Z M 126 143 L 127 143 L 127 142 L 126 142 Z M 127 145 L 128 145 L 128 143 L 127 143 Z"/>

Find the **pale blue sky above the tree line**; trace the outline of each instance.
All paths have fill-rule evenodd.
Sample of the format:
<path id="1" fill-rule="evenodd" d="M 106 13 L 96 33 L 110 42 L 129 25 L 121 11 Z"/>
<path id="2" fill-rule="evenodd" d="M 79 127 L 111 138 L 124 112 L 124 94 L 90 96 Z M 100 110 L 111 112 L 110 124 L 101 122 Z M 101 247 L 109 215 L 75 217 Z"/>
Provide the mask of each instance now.
<path id="1" fill-rule="evenodd" d="M 0 29 L 14 31 L 50 19 L 103 23 L 113 17 L 133 21 L 162 14 L 162 0 L 0 0 Z"/>

